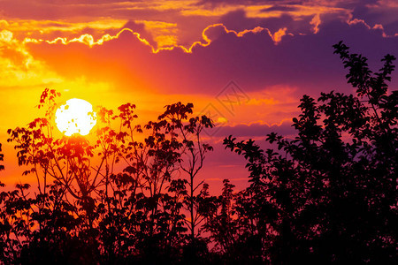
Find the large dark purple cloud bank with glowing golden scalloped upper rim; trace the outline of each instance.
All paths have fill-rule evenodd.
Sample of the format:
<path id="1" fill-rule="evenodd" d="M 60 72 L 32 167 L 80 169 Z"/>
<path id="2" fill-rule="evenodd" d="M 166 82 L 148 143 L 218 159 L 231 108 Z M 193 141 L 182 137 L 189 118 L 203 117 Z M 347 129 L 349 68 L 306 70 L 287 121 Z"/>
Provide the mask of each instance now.
<path id="1" fill-rule="evenodd" d="M 218 24 L 206 27 L 203 40 L 189 47 L 157 49 L 140 34 L 125 29 L 101 39 L 82 35 L 72 40 L 30 43 L 29 49 L 60 74 L 82 71 L 81 74 L 98 79 L 124 79 L 124 86 L 130 83 L 165 93 L 195 91 L 206 95 L 216 94 L 214 91 L 221 90 L 231 79 L 249 92 L 276 85 L 302 87 L 297 92 L 300 94 L 344 88 L 344 69 L 333 55 L 333 44 L 344 40 L 371 57 L 371 62 L 395 50 L 397 38 L 384 38 L 379 28 L 369 28 L 359 20 L 347 24 L 339 19 L 320 19 L 325 22 L 318 25 L 318 34 L 291 35 L 285 28 L 272 33 L 264 27 L 237 32 Z M 58 64 L 57 57 L 65 64 Z M 66 69 L 67 62 L 85 66 L 78 71 Z M 91 72 L 89 69 L 99 62 L 102 69 Z M 118 66 L 115 68 L 110 62 L 118 62 Z"/>

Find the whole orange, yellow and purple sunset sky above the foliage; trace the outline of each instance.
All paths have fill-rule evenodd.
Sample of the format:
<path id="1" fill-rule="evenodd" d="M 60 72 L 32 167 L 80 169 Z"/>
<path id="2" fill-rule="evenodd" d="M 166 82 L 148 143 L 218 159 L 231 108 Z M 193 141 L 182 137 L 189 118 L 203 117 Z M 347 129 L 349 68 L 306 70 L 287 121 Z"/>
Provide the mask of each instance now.
<path id="1" fill-rule="evenodd" d="M 2 0 L 2 181 L 26 182 L 6 130 L 42 115 L 34 106 L 50 87 L 61 101 L 132 102 L 142 123 L 193 102 L 218 123 L 201 178 L 246 186 L 244 162 L 222 140 L 292 135 L 302 95 L 353 93 L 332 45 L 344 41 L 377 71 L 398 56 L 397 14 L 396 0 Z M 394 72 L 390 88 L 397 82 Z"/>

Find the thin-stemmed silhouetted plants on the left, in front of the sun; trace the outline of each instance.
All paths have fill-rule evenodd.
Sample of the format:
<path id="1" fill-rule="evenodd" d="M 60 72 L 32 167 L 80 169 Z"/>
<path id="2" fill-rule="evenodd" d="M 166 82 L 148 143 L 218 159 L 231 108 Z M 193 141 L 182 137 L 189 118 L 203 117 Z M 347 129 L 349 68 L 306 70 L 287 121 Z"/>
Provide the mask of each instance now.
<path id="1" fill-rule="evenodd" d="M 45 117 L 8 131 L 19 165 L 28 169 L 23 175 L 35 176 L 38 193 L 27 194 L 27 185 L 2 193 L 1 218 L 12 221 L 2 229 L 2 261 L 179 261 L 188 230 L 182 210 L 193 208 L 186 186 L 194 185 L 211 149 L 201 140 L 210 119 L 191 117 L 193 105 L 179 102 L 142 128 L 127 103 L 118 113 L 99 108 L 94 144 L 75 135 L 55 139 L 57 96 L 46 88 L 38 106 Z M 192 167 L 183 166 L 187 154 Z M 178 177 L 179 170 L 188 170 L 190 181 Z"/>

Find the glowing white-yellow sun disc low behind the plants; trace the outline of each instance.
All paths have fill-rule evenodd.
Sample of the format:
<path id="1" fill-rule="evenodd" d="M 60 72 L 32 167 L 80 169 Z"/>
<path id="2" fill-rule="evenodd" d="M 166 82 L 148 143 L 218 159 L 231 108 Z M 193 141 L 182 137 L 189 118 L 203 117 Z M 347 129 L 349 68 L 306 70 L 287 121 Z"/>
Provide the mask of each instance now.
<path id="1" fill-rule="evenodd" d="M 96 112 L 89 102 L 73 98 L 57 109 L 55 121 L 58 130 L 66 136 L 88 135 L 96 125 Z"/>

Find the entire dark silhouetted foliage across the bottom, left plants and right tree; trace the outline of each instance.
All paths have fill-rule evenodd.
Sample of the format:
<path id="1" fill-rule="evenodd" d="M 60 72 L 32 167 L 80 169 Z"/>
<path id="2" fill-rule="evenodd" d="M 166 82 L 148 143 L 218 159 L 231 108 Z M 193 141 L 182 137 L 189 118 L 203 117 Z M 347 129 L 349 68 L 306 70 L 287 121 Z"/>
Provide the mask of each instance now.
<path id="1" fill-rule="evenodd" d="M 193 104 L 166 106 L 143 126 L 134 104 L 99 107 L 90 142 L 56 138 L 59 94 L 46 88 L 44 117 L 8 131 L 37 188 L 0 193 L 0 262 L 396 263 L 395 57 L 373 73 L 342 42 L 333 48 L 356 95 L 303 95 L 295 139 L 266 137 L 277 150 L 227 137 L 247 160 L 250 186 L 234 192 L 225 179 L 218 196 L 196 179 L 213 123 L 193 116 Z"/>

